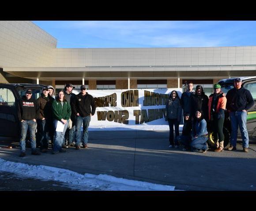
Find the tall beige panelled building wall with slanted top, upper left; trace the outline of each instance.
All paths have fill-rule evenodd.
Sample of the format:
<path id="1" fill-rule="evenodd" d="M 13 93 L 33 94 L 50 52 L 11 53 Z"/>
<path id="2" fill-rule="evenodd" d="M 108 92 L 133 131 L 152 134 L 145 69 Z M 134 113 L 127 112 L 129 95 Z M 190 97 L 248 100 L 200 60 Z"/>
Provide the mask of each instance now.
<path id="1" fill-rule="evenodd" d="M 31 21 L 0 21 L 0 67 L 47 67 L 57 40 Z"/>

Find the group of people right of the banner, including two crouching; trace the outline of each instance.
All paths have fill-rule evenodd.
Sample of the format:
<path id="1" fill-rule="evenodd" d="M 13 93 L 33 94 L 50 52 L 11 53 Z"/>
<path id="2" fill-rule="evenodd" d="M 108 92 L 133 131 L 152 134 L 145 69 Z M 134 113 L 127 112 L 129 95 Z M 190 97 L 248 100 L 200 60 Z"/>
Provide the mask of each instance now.
<path id="1" fill-rule="evenodd" d="M 224 134 L 222 131 L 225 110 L 228 111 L 231 122 L 231 137 L 229 151 L 236 150 L 238 126 L 241 131 L 243 151 L 248 152 L 249 138 L 246 127 L 248 109 L 254 105 L 250 91 L 242 87 L 241 78 L 234 80 L 234 87 L 226 96 L 220 84 L 214 84 L 214 92 L 205 95 L 201 85 L 193 91 L 193 83 L 188 84 L 188 90 L 183 92 L 181 99 L 177 91 L 170 93 L 166 101 L 166 121 L 169 123 L 169 148 L 182 147 L 182 150 L 206 153 L 208 150 L 208 132 L 212 130 L 216 149 L 224 150 Z M 179 124 L 183 110 L 184 125 L 182 135 L 179 135 Z M 210 129 L 211 125 L 211 129 Z M 173 136 L 173 126 L 175 138 Z"/>

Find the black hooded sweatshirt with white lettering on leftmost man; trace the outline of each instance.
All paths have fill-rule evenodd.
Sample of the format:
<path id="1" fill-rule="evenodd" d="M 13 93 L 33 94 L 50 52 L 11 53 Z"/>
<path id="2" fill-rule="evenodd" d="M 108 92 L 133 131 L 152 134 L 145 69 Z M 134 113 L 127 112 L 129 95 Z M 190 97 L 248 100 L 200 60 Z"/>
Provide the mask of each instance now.
<path id="1" fill-rule="evenodd" d="M 17 113 L 19 121 L 38 119 L 39 105 L 36 99 L 27 99 L 26 96 L 23 95 L 18 102 Z"/>

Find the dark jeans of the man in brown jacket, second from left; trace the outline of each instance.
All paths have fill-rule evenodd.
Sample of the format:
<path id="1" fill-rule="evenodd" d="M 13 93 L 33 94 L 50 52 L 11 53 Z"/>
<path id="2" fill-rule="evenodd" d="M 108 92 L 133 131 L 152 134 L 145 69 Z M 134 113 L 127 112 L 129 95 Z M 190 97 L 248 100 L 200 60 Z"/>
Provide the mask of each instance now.
<path id="1" fill-rule="evenodd" d="M 40 124 L 39 140 L 41 149 L 48 149 L 49 147 L 49 129 L 51 127 L 51 121 L 52 120 L 38 120 L 38 124 Z"/>

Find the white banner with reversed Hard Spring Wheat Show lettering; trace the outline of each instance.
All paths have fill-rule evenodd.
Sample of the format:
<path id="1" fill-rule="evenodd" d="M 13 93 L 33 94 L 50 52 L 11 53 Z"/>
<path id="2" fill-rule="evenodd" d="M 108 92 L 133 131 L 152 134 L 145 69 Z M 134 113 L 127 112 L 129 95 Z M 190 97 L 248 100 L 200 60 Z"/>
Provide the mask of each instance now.
<path id="1" fill-rule="evenodd" d="M 181 97 L 182 88 L 88 90 L 96 102 L 90 126 L 168 124 L 165 121 L 166 99 L 173 90 Z"/>

